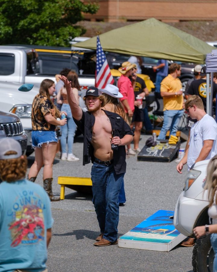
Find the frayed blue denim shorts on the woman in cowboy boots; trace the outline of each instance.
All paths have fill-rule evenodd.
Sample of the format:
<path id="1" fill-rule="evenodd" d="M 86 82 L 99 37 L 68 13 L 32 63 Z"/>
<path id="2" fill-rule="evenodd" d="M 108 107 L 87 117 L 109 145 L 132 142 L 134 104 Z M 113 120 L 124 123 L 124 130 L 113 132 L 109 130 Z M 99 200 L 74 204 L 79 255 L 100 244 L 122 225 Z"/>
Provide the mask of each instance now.
<path id="1" fill-rule="evenodd" d="M 32 147 L 41 147 L 44 143 L 58 142 L 56 131 L 33 130 L 32 131 Z"/>

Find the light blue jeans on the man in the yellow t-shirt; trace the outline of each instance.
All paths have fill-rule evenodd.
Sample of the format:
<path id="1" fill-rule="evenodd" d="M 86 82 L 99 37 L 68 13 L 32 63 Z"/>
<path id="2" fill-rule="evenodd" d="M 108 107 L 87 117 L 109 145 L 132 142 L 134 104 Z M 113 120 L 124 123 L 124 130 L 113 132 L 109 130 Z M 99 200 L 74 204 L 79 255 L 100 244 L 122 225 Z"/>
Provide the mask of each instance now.
<path id="1" fill-rule="evenodd" d="M 184 114 L 183 110 L 166 110 L 164 111 L 164 122 L 158 139 L 165 139 L 166 133 L 170 130 L 170 135 L 176 136 L 179 121 Z"/>

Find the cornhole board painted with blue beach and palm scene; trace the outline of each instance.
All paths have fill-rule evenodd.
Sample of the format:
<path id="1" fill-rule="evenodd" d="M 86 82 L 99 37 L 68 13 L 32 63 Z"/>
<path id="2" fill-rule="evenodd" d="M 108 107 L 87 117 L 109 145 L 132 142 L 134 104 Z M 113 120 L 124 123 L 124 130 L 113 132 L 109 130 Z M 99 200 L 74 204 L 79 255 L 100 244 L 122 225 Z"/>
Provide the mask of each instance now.
<path id="1" fill-rule="evenodd" d="M 173 211 L 159 210 L 118 239 L 118 247 L 170 251 L 186 236 L 173 225 Z"/>

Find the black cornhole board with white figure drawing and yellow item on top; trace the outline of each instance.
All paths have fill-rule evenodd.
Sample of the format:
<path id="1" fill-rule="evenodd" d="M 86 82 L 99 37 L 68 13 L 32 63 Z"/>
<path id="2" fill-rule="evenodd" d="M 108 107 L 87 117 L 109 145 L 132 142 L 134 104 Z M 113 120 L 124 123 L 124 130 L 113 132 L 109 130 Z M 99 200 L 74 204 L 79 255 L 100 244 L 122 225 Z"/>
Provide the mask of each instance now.
<path id="1" fill-rule="evenodd" d="M 156 146 L 144 146 L 137 155 L 137 160 L 170 162 L 177 156 L 181 141 L 177 144 L 168 144 L 168 140 L 157 140 Z"/>

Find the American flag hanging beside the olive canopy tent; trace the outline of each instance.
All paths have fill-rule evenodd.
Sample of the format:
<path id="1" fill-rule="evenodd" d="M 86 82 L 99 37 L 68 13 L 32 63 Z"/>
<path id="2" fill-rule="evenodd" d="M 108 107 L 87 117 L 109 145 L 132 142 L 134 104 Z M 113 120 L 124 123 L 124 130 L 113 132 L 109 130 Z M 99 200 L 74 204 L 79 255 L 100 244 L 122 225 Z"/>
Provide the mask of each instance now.
<path id="1" fill-rule="evenodd" d="M 95 87 L 99 89 L 105 88 L 107 84 L 113 84 L 114 79 L 111 75 L 108 62 L 101 47 L 99 36 L 97 36 L 96 42 L 96 81 Z"/>

